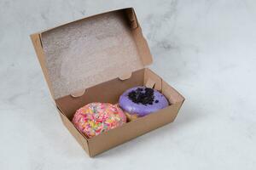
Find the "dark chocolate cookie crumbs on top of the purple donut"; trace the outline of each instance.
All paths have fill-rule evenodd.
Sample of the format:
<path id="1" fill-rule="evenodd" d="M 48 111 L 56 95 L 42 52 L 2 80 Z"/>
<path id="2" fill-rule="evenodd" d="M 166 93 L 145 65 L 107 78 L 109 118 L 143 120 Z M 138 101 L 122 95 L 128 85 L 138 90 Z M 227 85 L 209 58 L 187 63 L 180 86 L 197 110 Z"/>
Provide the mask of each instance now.
<path id="1" fill-rule="evenodd" d="M 152 88 L 137 88 L 136 90 L 132 90 L 128 94 L 128 97 L 136 104 L 153 105 L 154 90 Z M 158 100 L 155 100 L 155 103 L 158 102 Z"/>

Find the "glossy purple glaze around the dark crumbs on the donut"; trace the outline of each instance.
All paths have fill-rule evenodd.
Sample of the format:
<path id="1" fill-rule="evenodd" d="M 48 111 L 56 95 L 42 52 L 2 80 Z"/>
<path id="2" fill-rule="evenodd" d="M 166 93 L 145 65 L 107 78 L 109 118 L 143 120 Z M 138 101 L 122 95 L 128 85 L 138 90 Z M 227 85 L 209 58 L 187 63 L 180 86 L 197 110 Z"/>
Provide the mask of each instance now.
<path id="1" fill-rule="evenodd" d="M 137 116 L 146 116 L 149 113 L 152 113 L 154 111 L 159 111 L 160 109 L 165 108 L 169 105 L 166 97 L 163 94 L 160 94 L 157 90 L 154 89 L 154 102 L 153 105 L 143 105 L 143 104 L 136 104 L 131 99 L 129 99 L 128 94 L 136 90 L 137 88 L 143 88 L 143 90 L 146 87 L 143 86 L 137 86 L 135 88 L 130 88 L 125 91 L 124 94 L 122 94 L 119 97 L 119 106 L 126 112 L 130 113 L 131 115 L 137 115 Z M 155 102 L 158 100 L 158 102 Z"/>

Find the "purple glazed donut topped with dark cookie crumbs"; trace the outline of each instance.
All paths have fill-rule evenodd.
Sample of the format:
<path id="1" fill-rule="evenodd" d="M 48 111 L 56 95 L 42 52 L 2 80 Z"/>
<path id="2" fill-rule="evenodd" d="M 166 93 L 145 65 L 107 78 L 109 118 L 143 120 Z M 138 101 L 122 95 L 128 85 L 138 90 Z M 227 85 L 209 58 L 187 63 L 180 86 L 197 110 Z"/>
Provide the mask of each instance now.
<path id="1" fill-rule="evenodd" d="M 143 86 L 130 88 L 119 97 L 119 106 L 133 117 L 146 116 L 168 105 L 163 94 L 153 88 Z"/>

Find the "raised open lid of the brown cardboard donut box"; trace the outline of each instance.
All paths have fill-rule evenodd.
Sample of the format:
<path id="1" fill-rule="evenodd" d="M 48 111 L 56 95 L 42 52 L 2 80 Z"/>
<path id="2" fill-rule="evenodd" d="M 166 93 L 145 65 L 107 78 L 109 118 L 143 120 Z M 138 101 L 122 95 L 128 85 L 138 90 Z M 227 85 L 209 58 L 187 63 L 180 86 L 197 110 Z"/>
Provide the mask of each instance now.
<path id="1" fill-rule="evenodd" d="M 54 99 L 116 77 L 128 78 L 152 63 L 133 8 L 97 14 L 31 37 Z"/>

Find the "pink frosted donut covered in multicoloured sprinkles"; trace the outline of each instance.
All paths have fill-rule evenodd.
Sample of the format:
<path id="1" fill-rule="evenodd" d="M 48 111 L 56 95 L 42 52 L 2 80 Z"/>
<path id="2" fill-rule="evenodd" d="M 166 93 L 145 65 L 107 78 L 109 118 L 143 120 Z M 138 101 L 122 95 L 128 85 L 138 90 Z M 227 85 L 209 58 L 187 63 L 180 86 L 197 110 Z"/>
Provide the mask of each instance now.
<path id="1" fill-rule="evenodd" d="M 126 116 L 117 105 L 90 103 L 76 111 L 72 122 L 81 133 L 91 138 L 121 126 L 126 122 Z"/>

